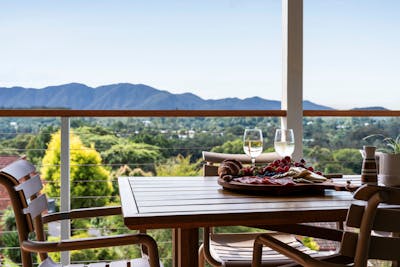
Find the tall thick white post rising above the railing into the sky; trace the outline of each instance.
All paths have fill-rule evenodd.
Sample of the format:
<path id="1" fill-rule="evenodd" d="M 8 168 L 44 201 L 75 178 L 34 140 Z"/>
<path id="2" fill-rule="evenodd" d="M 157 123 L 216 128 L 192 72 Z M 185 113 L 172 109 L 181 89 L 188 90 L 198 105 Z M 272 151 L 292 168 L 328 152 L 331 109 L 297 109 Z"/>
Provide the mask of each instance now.
<path id="1" fill-rule="evenodd" d="M 293 158 L 303 157 L 303 0 L 282 0 L 282 128 L 294 132 Z"/>

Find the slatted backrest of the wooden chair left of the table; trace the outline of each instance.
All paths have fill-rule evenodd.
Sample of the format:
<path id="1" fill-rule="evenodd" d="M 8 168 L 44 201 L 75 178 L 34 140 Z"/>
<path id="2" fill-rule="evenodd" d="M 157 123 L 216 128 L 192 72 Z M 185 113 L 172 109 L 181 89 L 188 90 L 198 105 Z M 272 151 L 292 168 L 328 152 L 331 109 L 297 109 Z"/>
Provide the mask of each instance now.
<path id="1" fill-rule="evenodd" d="M 0 184 L 10 196 L 18 231 L 19 243 L 28 240 L 31 233 L 36 234 L 36 240 L 44 241 L 42 213 L 47 211 L 47 198 L 41 194 L 42 181 L 35 167 L 25 159 L 14 161 L 0 170 Z M 42 260 L 47 253 L 40 253 Z M 29 252 L 21 249 L 23 266 L 32 266 Z"/>

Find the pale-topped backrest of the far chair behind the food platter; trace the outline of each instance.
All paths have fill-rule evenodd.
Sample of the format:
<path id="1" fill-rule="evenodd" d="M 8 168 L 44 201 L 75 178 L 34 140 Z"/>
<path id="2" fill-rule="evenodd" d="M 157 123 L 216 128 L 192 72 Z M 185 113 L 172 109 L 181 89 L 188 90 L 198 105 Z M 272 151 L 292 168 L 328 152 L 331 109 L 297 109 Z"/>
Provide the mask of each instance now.
<path id="1" fill-rule="evenodd" d="M 268 163 L 281 157 L 275 153 L 263 153 L 256 158 L 256 163 Z M 243 164 L 250 164 L 251 158 L 245 154 L 228 154 L 228 153 L 217 153 L 203 151 L 203 160 L 205 164 L 203 165 L 203 175 L 204 176 L 217 176 L 218 175 L 218 165 L 226 159 L 235 159 Z"/>

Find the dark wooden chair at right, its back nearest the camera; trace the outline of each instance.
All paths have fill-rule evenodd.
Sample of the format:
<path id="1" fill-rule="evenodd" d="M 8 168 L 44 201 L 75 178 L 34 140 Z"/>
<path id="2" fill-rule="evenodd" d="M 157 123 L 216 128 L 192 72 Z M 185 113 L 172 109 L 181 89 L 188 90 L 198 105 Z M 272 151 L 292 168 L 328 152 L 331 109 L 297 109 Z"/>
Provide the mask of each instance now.
<path id="1" fill-rule="evenodd" d="M 337 231 L 341 238 L 340 250 L 325 259 L 315 259 L 310 255 L 287 246 L 271 235 L 262 234 L 254 243 L 252 267 L 261 265 L 263 245 L 293 259 L 301 266 L 367 266 L 368 259 L 400 260 L 400 188 L 365 185 L 354 194 L 355 200 L 348 211 L 346 225 L 358 231 Z M 362 201 L 362 202 L 361 202 Z M 384 205 L 382 205 L 384 204 Z M 373 231 L 383 231 L 391 235 L 376 235 Z"/>

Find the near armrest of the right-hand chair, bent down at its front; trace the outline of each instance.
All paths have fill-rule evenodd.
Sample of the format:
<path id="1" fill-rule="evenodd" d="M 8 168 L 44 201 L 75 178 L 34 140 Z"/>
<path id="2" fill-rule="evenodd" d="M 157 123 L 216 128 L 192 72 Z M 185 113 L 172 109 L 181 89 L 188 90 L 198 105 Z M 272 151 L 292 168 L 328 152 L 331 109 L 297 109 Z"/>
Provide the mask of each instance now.
<path id="1" fill-rule="evenodd" d="M 252 267 L 261 266 L 262 246 L 268 246 L 273 250 L 287 256 L 302 266 L 313 266 L 313 267 L 337 267 L 343 266 L 335 263 L 323 262 L 312 258 L 308 254 L 305 254 L 288 244 L 281 242 L 280 240 L 268 235 L 261 234 L 254 241 L 254 252 L 253 252 L 253 263 Z"/>

